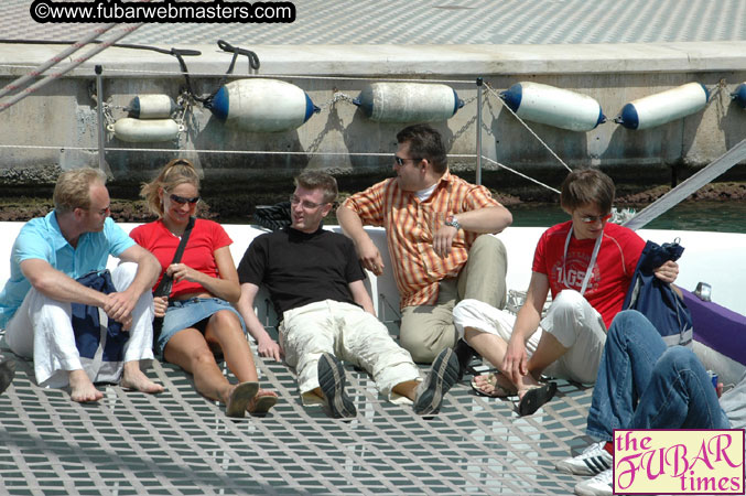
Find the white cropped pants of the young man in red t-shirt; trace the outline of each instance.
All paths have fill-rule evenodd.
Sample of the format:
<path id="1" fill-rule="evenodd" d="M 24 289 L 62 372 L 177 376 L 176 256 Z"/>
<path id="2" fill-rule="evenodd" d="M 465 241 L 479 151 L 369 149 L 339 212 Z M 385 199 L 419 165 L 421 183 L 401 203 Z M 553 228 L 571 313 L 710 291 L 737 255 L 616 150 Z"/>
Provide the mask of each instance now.
<path id="1" fill-rule="evenodd" d="M 453 322 L 461 337 L 464 337 L 465 327 L 472 327 L 499 336 L 507 343 L 516 316 L 478 300 L 463 300 L 453 309 Z M 527 341 L 529 356 L 537 351 L 544 332 L 569 348 L 567 353 L 547 367 L 544 374 L 594 384 L 606 343 L 606 326 L 596 309 L 577 291 L 564 290 L 552 301 L 541 326 Z"/>

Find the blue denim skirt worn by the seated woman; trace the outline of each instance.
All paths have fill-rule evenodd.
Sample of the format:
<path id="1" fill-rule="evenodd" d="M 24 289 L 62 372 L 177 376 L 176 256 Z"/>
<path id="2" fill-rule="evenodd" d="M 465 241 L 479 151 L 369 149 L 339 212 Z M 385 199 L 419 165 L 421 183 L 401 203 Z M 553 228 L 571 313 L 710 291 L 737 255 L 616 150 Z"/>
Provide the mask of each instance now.
<path id="1" fill-rule="evenodd" d="M 163 326 L 161 327 L 161 335 L 155 344 L 155 352 L 158 356 L 163 357 L 163 348 L 165 348 L 169 339 L 173 337 L 179 331 L 187 327 L 202 327 L 204 334 L 204 325 L 197 326 L 195 324 L 209 319 L 214 313 L 220 310 L 228 310 L 238 316 L 241 323 L 244 334 L 246 334 L 246 324 L 244 319 L 234 306 L 225 300 L 219 298 L 191 298 L 188 300 L 170 300 L 169 309 L 165 311 L 163 317 Z"/>

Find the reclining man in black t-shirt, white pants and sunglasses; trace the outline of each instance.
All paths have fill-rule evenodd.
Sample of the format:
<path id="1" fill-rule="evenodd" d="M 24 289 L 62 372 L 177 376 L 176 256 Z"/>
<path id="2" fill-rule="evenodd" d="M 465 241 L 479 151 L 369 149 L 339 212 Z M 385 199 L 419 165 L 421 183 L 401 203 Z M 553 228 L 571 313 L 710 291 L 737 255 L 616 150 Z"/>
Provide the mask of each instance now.
<path id="1" fill-rule="evenodd" d="M 324 403 L 334 417 L 357 414 L 344 390 L 343 359 L 371 374 L 391 401 L 409 399 L 417 413 L 435 413 L 456 381 L 458 360 L 444 349 L 421 380 L 409 352 L 375 315 L 353 242 L 321 227 L 336 196 L 328 174 L 307 171 L 295 179 L 291 226 L 258 236 L 241 259 L 238 310 L 259 355 L 275 360 L 284 355 L 296 369 L 305 405 Z M 253 311 L 262 284 L 282 316 L 279 344 Z"/>

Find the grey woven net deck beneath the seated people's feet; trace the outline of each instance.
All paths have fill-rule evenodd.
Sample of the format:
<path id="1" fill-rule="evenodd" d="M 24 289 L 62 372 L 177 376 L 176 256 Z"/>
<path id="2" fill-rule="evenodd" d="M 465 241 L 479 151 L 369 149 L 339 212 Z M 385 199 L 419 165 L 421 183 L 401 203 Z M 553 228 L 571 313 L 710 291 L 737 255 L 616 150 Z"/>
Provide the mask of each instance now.
<path id="1" fill-rule="evenodd" d="M 580 481 L 553 464 L 584 432 L 587 389 L 560 382 L 544 409 L 518 418 L 465 380 L 423 419 L 347 367 L 358 417 L 345 422 L 304 408 L 284 365 L 258 365 L 281 400 L 264 418 L 231 421 L 169 364 L 148 373 L 162 395 L 106 387 L 104 400 L 79 405 L 32 384 L 19 362 L 0 395 L 0 494 L 562 495 Z"/>

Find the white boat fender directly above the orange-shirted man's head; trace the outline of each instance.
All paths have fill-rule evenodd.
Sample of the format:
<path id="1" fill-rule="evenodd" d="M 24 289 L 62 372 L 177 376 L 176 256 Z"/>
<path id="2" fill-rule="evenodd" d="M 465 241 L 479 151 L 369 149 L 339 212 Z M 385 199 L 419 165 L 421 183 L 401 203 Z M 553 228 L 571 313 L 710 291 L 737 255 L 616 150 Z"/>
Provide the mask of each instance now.
<path id="1" fill-rule="evenodd" d="M 428 83 L 371 83 L 353 104 L 376 122 L 448 120 L 464 106 L 451 86 Z"/>

